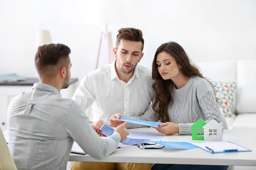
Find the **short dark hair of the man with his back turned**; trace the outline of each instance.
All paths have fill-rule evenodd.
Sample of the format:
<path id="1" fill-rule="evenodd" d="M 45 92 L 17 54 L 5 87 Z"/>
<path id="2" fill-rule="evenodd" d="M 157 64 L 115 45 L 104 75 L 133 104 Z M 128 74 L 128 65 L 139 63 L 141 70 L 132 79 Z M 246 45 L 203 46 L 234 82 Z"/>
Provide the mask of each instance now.
<path id="1" fill-rule="evenodd" d="M 68 67 L 70 48 L 64 44 L 48 44 L 38 47 L 35 54 L 35 68 L 39 77 L 55 77 L 60 68 Z"/>

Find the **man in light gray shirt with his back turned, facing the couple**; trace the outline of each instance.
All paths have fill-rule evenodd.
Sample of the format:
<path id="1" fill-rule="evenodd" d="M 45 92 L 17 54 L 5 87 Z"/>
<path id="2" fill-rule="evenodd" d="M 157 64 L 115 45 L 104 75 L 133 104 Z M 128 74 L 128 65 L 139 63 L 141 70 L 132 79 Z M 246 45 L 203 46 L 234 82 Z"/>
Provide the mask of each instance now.
<path id="1" fill-rule="evenodd" d="M 111 154 L 129 134 L 120 125 L 112 136 L 101 138 L 84 110 L 60 90 L 70 82 L 70 48 L 49 44 L 38 48 L 35 67 L 39 83 L 16 96 L 8 108 L 9 149 L 18 170 L 66 170 L 76 141 L 96 159 Z"/>

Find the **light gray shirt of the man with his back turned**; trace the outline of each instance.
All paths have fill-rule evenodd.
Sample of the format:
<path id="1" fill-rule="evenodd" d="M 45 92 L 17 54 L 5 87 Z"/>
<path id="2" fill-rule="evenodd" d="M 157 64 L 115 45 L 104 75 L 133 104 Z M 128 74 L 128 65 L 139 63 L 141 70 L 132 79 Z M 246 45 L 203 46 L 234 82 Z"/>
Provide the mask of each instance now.
<path id="1" fill-rule="evenodd" d="M 111 154 L 119 133 L 101 138 L 83 108 L 46 84 L 15 97 L 8 109 L 9 149 L 18 170 L 66 170 L 74 140 L 96 159 Z"/>

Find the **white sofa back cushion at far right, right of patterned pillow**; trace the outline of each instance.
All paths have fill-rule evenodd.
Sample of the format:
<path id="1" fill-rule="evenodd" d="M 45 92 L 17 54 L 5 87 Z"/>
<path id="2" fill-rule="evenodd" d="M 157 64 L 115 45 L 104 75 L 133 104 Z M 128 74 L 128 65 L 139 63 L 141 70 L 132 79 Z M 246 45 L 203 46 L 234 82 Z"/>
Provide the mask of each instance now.
<path id="1" fill-rule="evenodd" d="M 256 113 L 256 60 L 237 62 L 237 113 Z"/>

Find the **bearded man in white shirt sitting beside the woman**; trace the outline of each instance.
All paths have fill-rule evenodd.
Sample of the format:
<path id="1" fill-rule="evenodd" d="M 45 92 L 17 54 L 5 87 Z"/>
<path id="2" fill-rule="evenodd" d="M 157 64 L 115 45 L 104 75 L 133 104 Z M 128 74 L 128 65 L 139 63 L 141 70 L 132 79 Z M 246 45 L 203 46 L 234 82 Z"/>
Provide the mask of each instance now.
<path id="1" fill-rule="evenodd" d="M 115 113 L 127 116 L 141 116 L 151 104 L 153 91 L 151 88 L 151 71 L 137 65 L 143 57 L 143 33 L 136 28 L 121 28 L 116 36 L 116 47 L 113 53 L 115 62 L 104 65 L 90 72 L 81 80 L 73 96 L 73 100 L 86 110 L 93 102 L 92 125 L 101 127 Z M 73 163 L 72 170 L 85 169 L 151 169 L 136 164 L 125 163 Z M 134 165 L 133 165 L 134 166 Z M 148 166 L 148 164 L 147 164 Z"/>

